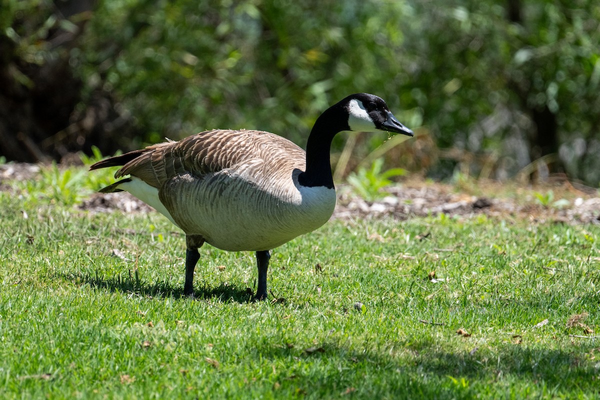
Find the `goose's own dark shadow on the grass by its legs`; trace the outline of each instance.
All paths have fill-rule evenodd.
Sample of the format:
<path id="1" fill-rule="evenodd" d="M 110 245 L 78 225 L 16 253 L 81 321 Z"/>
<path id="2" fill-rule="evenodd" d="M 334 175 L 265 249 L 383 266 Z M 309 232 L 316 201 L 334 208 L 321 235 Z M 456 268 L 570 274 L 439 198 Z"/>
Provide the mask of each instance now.
<path id="1" fill-rule="evenodd" d="M 145 297 L 187 299 L 183 286 L 180 284 L 172 285 L 167 281 L 148 284 L 131 273 L 126 277 L 118 275 L 112 278 L 92 276 L 89 273 L 62 273 L 59 277 L 75 284 L 88 284 L 92 288 L 106 289 L 113 293 L 136 293 Z M 241 289 L 224 283 L 213 288 L 205 285 L 201 290 L 196 289 L 194 295 L 196 299 L 200 300 L 218 300 L 220 302 L 232 300 L 238 303 L 247 303 L 251 297 L 246 288 Z"/>

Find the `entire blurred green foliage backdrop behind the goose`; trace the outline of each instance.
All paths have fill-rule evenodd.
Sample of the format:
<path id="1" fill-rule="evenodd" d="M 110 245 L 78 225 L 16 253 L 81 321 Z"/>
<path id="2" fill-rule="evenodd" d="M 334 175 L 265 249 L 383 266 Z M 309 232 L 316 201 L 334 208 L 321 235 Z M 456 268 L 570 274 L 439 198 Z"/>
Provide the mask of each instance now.
<path id="1" fill-rule="evenodd" d="M 70 1 L 8 0 L 0 35 L 14 41 L 11 16 L 28 5 L 44 17 L 25 19 L 37 27 L 27 43 L 40 43 L 51 5 Z M 326 107 L 371 92 L 433 138 L 437 158 L 416 163 L 428 176 L 503 179 L 553 160 L 534 175 L 598 185 L 599 21 L 592 0 L 100 0 L 69 63 L 84 84 L 79 109 L 113 95 L 146 143 L 253 128 L 304 145 Z M 354 154 L 386 139 L 365 136 Z M 421 154 L 409 149 L 418 143 L 398 148 Z"/>

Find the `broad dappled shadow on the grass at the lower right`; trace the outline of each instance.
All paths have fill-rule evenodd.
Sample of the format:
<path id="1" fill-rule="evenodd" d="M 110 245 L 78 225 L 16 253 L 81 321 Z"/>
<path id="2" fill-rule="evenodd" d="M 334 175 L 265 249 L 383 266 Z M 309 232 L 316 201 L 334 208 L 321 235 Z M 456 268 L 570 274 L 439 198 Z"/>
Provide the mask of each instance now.
<path id="1" fill-rule="evenodd" d="M 398 344 L 406 351 L 398 351 L 397 356 L 386 351 L 349 350 L 332 342 L 323 343 L 319 351 L 313 351 L 314 347 L 309 352 L 290 345 L 264 345 L 259 352 L 274 360 L 319 360 L 337 366 L 323 377 L 304 376 L 296 370 L 279 377 L 280 382 L 292 377 L 307 392 L 331 390 L 334 381 L 341 387 L 352 387 L 355 395 L 374 398 L 388 397 L 389 393 L 398 399 L 475 398 L 482 392 L 517 398 L 528 397 L 527 393 L 544 393 L 544 398 L 567 393 L 584 393 L 593 396 L 590 398 L 600 395 L 600 371 L 586 359 L 597 344 L 574 345 L 566 350 L 502 344 L 473 354 L 440 351 L 433 342 L 418 345 L 420 350 L 415 351 L 413 344 Z"/>

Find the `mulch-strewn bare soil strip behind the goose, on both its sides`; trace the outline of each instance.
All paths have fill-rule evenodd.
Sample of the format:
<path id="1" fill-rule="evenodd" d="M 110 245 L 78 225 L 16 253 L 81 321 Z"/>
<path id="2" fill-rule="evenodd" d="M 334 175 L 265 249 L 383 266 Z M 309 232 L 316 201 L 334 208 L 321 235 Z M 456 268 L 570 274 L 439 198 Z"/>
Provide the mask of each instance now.
<path id="1" fill-rule="evenodd" d="M 6 181 L 35 179 L 40 173 L 37 164 L 11 163 L 0 165 L 0 190 L 7 190 Z M 535 193 L 552 190 L 556 199 L 567 200 L 560 207 L 543 206 Z M 439 215 L 470 216 L 485 214 L 502 219 L 531 222 L 566 222 L 570 224 L 600 224 L 600 197 L 590 188 L 575 189 L 569 182 L 541 188 L 514 187 L 506 184 L 475 182 L 474 188 L 457 191 L 451 185 L 407 181 L 386 188 L 389 196 L 377 201 L 356 197 L 349 187 L 339 185 L 334 218 L 395 218 Z M 476 193 L 476 194 L 474 194 Z M 485 193 L 485 194 L 482 194 Z M 512 193 L 506 196 L 506 193 Z M 80 204 L 79 209 L 90 212 L 148 212 L 152 210 L 128 193 L 95 193 Z"/>

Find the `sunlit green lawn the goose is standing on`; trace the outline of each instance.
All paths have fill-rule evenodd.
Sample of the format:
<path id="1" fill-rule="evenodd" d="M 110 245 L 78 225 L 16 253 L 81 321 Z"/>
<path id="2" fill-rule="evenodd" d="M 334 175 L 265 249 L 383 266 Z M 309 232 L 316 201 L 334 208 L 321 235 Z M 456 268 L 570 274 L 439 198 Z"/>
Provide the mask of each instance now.
<path id="1" fill-rule="evenodd" d="M 22 188 L 0 193 L 0 398 L 600 396 L 597 226 L 332 221 L 273 252 L 285 302 L 248 302 L 254 254 L 208 245 L 191 300 L 162 216 Z"/>

